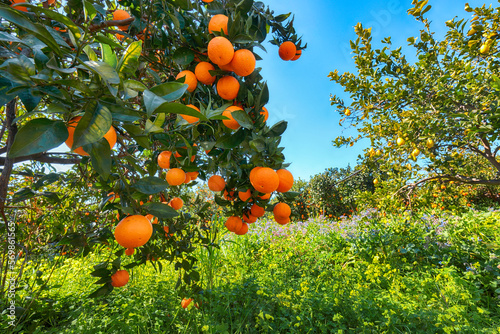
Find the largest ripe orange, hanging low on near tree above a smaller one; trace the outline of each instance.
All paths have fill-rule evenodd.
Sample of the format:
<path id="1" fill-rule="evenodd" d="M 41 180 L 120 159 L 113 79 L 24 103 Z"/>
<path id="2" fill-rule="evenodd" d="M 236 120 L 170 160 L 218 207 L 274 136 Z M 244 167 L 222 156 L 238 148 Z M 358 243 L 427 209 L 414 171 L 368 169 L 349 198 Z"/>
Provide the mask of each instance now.
<path id="1" fill-rule="evenodd" d="M 115 239 L 122 247 L 137 248 L 148 242 L 153 234 L 149 219 L 142 215 L 123 218 L 115 228 Z"/>

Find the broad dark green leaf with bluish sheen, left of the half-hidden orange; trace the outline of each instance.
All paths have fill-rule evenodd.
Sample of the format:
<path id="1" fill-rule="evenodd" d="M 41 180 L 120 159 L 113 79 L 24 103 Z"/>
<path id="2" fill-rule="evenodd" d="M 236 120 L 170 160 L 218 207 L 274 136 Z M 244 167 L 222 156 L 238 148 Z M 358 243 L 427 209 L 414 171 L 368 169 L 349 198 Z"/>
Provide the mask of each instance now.
<path id="1" fill-rule="evenodd" d="M 19 129 L 9 151 L 9 157 L 21 157 L 48 151 L 68 139 L 68 130 L 62 121 L 36 118 Z"/>

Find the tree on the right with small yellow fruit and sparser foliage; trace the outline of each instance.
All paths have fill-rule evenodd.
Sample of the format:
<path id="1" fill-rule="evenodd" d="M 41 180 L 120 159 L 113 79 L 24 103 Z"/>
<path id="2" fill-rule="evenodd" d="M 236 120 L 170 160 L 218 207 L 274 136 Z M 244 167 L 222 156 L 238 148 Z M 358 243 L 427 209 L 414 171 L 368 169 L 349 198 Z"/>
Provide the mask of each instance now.
<path id="1" fill-rule="evenodd" d="M 447 21 L 448 31 L 438 40 L 425 18 L 427 2 L 414 1 L 408 11 L 423 24 L 418 37 L 408 38 L 414 62 L 401 47 L 392 49 L 390 38 L 376 48 L 371 29 L 358 24 L 351 42 L 357 73 L 329 74 L 352 98 L 346 105 L 332 96 L 332 105 L 359 132 L 334 144 L 369 138 L 362 160 L 373 169 L 377 187 L 390 188 L 388 196 L 395 189 L 411 193 L 431 180 L 500 184 L 499 8 L 466 4 L 473 18 Z"/>

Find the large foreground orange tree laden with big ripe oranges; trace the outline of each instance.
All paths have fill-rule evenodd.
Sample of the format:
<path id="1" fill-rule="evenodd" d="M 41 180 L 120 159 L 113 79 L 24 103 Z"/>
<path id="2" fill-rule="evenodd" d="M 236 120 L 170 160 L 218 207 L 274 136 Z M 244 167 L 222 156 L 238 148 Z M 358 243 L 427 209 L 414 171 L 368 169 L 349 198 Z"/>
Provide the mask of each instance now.
<path id="1" fill-rule="evenodd" d="M 204 233 L 209 204 L 188 198 L 196 195 L 186 190 L 195 180 L 221 175 L 225 187 L 215 194 L 216 203 L 227 216 L 249 223 L 254 204 L 272 211 L 271 194 L 250 182 L 255 167 L 271 170 L 280 183 L 262 189 L 286 188 L 273 198 L 284 202 L 296 195 L 288 191 L 290 177 L 282 180 L 274 172 L 287 166 L 279 146 L 287 124 L 267 125 L 269 90 L 255 67 L 270 32 L 272 44 L 295 45 L 290 60 L 300 57 L 305 46 L 290 14 L 275 16 L 253 0 L 21 5 L 0 4 L 3 235 L 12 222 L 6 203 L 12 201 L 8 186 L 16 163 L 76 164 L 80 185 L 101 194 L 96 209 L 116 212 L 121 220 L 119 229 L 109 220 L 86 231 L 92 243 L 78 230 L 50 240 L 86 252 L 96 244 L 112 247 L 114 259 L 92 272 L 101 284 L 92 295 L 109 293 L 118 270 L 157 259 L 175 262 L 178 285 L 199 289 L 192 252 L 213 240 Z M 217 22 L 210 25 L 212 17 Z M 64 143 L 71 152 L 53 153 Z M 269 173 L 256 173 L 255 184 L 267 182 Z M 14 196 L 19 200 L 19 193 Z M 175 197 L 182 199 L 176 199 L 177 210 L 169 205 Z M 184 211 L 179 203 L 194 207 Z M 127 249 L 116 244 L 112 231 Z M 131 255 L 126 264 L 124 253 Z M 3 258 L 10 256 L 6 245 Z"/>

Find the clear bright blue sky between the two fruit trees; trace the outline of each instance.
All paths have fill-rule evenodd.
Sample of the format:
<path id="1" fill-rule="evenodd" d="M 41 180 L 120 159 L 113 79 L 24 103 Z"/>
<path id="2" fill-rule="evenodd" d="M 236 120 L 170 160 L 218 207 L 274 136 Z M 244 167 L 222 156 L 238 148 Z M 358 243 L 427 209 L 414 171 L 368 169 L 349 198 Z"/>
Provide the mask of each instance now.
<path id="1" fill-rule="evenodd" d="M 257 63 L 267 80 L 270 91 L 269 124 L 282 119 L 288 121 L 283 134 L 288 168 L 293 175 L 304 180 L 330 167 L 356 165 L 363 144 L 350 148 L 333 147 L 332 140 L 342 134 L 340 115 L 330 105 L 330 94 L 341 96 L 346 103 L 347 94 L 341 86 L 331 82 L 327 75 L 338 69 L 340 73 L 353 72 L 354 60 L 349 40 L 356 39 L 354 26 L 361 22 L 372 27 L 373 41 L 392 37 L 393 47 L 406 46 L 406 39 L 418 36 L 422 25 L 406 13 L 411 0 L 388 1 L 334 1 L 334 0 L 269 0 L 265 1 L 275 14 L 292 12 L 294 26 L 307 49 L 294 62 L 282 61 L 278 48 L 265 43 L 267 54 Z M 490 5 L 492 1 L 468 1 L 471 7 Z M 466 1 L 430 0 L 432 9 L 426 14 L 438 36 L 446 31 L 445 21 L 458 16 L 470 19 L 464 11 Z M 496 2 L 495 2 L 496 4 Z M 409 52 L 411 49 L 407 48 Z M 345 132 L 344 132 L 345 133 Z M 351 132 L 353 133 L 353 132 Z"/>

